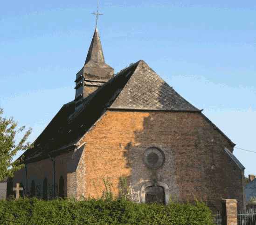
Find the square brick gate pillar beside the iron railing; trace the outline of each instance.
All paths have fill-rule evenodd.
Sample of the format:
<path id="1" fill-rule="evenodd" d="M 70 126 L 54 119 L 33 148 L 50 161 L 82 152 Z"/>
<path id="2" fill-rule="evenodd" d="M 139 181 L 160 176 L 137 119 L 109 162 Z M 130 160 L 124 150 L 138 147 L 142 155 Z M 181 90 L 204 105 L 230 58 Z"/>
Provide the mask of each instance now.
<path id="1" fill-rule="evenodd" d="M 222 225 L 237 225 L 237 201 L 235 199 L 223 199 L 221 204 Z"/>

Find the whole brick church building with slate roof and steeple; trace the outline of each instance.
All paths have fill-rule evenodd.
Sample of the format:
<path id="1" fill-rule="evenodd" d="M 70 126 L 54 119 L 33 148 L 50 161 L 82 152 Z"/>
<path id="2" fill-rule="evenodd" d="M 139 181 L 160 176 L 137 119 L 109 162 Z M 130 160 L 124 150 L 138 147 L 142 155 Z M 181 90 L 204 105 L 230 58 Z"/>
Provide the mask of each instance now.
<path id="1" fill-rule="evenodd" d="M 213 210 L 221 210 L 222 199 L 236 199 L 245 209 L 245 167 L 233 155 L 235 143 L 145 61 L 115 74 L 97 27 L 75 83 L 74 100 L 24 153 L 26 166 L 8 178 L 7 198 L 16 195 L 16 183 L 21 197 L 100 198 L 107 177 L 120 196 L 124 176 L 140 203 L 168 204 L 175 195 Z"/>

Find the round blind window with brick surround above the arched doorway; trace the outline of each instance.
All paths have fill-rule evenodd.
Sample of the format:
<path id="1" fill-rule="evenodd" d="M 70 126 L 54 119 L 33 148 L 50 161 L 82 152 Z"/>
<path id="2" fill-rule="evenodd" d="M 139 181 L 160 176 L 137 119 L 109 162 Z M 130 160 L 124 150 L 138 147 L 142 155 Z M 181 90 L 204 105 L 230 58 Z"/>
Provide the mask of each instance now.
<path id="1" fill-rule="evenodd" d="M 163 164 L 164 157 L 157 148 L 149 148 L 143 154 L 143 161 L 148 168 L 158 169 Z"/>

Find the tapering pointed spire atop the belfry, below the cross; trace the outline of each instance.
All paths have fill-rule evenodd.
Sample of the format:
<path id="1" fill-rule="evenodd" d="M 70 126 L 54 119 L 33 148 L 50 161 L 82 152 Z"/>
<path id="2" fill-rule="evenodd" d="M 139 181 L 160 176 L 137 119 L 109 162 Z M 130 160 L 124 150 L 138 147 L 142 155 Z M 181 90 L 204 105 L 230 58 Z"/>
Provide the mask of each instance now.
<path id="1" fill-rule="evenodd" d="M 95 31 L 90 43 L 90 48 L 89 48 L 84 65 L 87 64 L 89 61 L 94 61 L 98 64 L 102 64 L 105 62 L 97 26 L 95 28 Z"/>

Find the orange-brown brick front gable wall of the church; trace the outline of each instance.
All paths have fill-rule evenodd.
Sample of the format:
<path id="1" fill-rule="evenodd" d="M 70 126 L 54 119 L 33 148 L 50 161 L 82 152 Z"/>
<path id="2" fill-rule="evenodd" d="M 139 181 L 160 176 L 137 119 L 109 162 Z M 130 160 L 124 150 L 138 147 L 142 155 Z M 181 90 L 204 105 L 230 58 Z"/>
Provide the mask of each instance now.
<path id="1" fill-rule="evenodd" d="M 135 192 L 145 185 L 166 184 L 169 196 L 180 203 L 189 199 L 194 204 L 196 197 L 220 210 L 221 199 L 232 198 L 238 209 L 245 207 L 244 171 L 224 150 L 233 148 L 200 113 L 107 111 L 83 142 L 85 189 L 78 192 L 87 198 L 102 196 L 102 178 L 107 177 L 119 195 L 124 175 Z M 144 163 L 145 150 L 151 147 L 164 155 L 159 169 Z"/>

